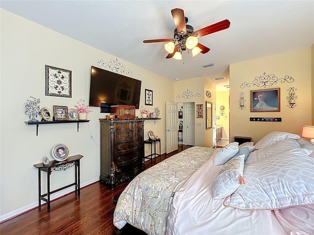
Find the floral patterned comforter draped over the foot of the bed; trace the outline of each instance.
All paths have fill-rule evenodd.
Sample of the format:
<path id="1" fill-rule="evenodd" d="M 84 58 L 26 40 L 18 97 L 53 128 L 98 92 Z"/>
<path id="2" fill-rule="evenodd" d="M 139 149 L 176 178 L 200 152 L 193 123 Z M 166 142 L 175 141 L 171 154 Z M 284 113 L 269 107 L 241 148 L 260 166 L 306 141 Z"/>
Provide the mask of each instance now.
<path id="1" fill-rule="evenodd" d="M 128 222 L 149 235 L 164 235 L 173 193 L 214 151 L 190 147 L 137 175 L 119 197 L 114 225 L 121 229 Z"/>

